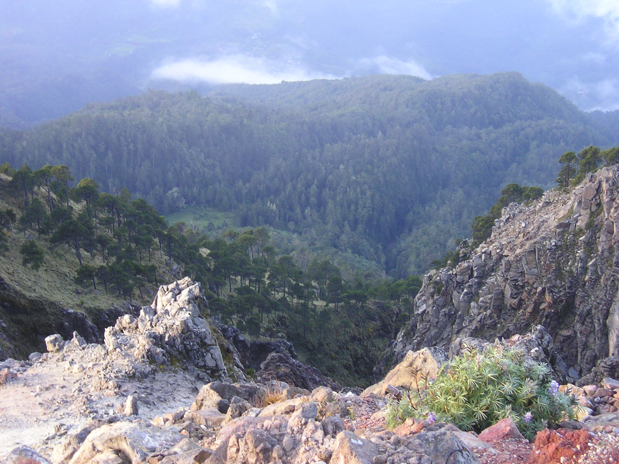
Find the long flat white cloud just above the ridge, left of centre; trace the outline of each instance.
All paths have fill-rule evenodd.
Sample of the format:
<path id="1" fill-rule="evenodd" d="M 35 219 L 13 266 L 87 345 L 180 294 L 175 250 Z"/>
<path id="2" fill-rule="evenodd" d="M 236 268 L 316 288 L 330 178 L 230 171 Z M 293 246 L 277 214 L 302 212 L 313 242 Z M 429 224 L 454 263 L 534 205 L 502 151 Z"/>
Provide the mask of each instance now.
<path id="1" fill-rule="evenodd" d="M 163 64 L 153 71 L 153 79 L 209 84 L 279 84 L 282 80 L 335 79 L 335 76 L 307 72 L 295 66 L 282 69 L 274 63 L 242 55 L 226 56 L 212 61 L 184 59 Z"/>

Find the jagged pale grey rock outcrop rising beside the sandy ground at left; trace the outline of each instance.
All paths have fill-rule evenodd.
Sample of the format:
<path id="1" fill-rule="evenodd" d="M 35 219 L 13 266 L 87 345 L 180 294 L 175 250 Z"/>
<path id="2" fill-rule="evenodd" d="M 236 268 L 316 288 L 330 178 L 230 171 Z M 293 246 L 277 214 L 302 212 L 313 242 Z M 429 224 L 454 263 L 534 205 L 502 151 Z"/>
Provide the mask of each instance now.
<path id="1" fill-rule="evenodd" d="M 126 314 L 105 329 L 105 346 L 110 352 L 130 351 L 142 363 L 167 364 L 171 356 L 183 358 L 204 379 L 225 375 L 219 346 L 197 306 L 201 296 L 200 284 L 189 277 L 160 286 L 139 317 Z"/>

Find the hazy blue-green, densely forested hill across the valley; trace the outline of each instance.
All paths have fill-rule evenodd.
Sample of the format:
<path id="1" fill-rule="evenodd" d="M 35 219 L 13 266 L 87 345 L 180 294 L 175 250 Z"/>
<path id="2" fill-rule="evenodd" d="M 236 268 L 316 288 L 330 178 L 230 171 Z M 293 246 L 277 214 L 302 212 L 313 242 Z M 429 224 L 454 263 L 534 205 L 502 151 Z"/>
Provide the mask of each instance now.
<path id="1" fill-rule="evenodd" d="M 232 212 L 405 277 L 427 269 L 508 183 L 554 186 L 566 150 L 616 144 L 554 90 L 516 73 L 375 75 L 149 92 L 32 131 L 0 159 L 64 164 L 171 213 Z"/>

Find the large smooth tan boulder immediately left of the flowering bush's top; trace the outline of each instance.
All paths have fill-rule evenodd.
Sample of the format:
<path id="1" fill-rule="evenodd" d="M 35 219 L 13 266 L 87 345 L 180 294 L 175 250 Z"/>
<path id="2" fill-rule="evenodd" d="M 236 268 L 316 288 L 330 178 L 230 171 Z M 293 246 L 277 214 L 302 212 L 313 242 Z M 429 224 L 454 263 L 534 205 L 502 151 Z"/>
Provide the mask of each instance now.
<path id="1" fill-rule="evenodd" d="M 389 371 L 389 374 L 378 384 L 363 390 L 361 396 L 376 393 L 384 395 L 389 385 L 403 389 L 417 388 L 417 382 L 422 379 L 434 379 L 439 369 L 447 361 L 447 353 L 440 348 L 422 348 L 419 351 L 409 351 L 401 363 Z"/>

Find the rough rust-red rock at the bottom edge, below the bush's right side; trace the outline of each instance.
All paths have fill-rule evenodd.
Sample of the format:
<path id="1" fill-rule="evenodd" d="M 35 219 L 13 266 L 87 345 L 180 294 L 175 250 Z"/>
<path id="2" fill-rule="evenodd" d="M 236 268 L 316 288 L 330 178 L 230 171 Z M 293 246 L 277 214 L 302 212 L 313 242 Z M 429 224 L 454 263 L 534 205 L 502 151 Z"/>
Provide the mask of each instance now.
<path id="1" fill-rule="evenodd" d="M 555 464 L 561 462 L 562 457 L 568 458 L 568 462 L 576 462 L 589 449 L 587 442 L 589 432 L 586 429 L 542 430 L 537 432 L 527 464 Z"/>

